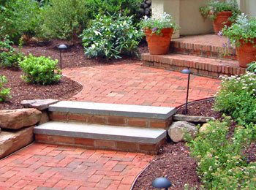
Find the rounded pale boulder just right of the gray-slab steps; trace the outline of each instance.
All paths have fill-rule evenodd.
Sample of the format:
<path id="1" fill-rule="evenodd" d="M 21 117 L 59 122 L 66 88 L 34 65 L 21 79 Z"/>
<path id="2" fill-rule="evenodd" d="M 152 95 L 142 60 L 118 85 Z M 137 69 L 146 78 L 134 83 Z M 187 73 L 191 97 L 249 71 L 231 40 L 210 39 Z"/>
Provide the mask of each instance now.
<path id="1" fill-rule="evenodd" d="M 187 132 L 192 134 L 192 137 L 194 137 L 196 129 L 195 124 L 193 123 L 189 123 L 187 121 L 176 121 L 172 123 L 167 132 L 173 142 L 180 142 L 184 140 L 184 134 Z"/>

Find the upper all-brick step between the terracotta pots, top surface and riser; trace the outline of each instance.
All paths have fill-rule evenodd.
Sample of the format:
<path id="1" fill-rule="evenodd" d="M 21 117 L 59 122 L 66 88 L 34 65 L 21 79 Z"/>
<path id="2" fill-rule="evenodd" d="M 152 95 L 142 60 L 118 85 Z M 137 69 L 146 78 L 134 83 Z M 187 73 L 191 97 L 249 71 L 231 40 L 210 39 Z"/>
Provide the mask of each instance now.
<path id="1" fill-rule="evenodd" d="M 227 44 L 227 42 L 227 37 L 219 37 L 215 34 L 180 37 L 178 39 L 172 39 L 172 42 L 170 43 L 170 52 L 209 58 L 237 60 L 235 48 L 229 49 L 223 47 L 223 44 Z M 224 51 L 228 53 L 228 56 L 223 55 Z"/>

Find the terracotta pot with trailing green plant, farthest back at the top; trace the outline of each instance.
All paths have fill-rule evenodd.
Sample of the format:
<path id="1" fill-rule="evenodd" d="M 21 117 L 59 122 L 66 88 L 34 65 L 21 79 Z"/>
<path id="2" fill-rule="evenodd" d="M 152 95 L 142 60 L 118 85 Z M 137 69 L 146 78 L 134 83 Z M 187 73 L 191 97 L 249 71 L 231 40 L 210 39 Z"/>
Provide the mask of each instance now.
<path id="1" fill-rule="evenodd" d="M 200 7 L 200 12 L 204 18 L 210 18 L 213 21 L 215 34 L 218 34 L 225 25 L 230 26 L 236 20 L 236 16 L 241 14 L 236 0 L 228 2 L 211 0 L 205 6 Z"/>

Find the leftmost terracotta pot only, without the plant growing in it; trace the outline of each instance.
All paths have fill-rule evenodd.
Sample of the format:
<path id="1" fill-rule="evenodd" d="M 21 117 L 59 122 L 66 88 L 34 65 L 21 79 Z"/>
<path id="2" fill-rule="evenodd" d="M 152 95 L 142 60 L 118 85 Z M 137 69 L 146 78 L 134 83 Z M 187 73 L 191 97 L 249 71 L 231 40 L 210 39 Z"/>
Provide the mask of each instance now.
<path id="1" fill-rule="evenodd" d="M 162 35 L 159 36 L 152 34 L 152 31 L 148 28 L 145 28 L 144 32 L 146 34 L 148 49 L 151 55 L 164 55 L 168 53 L 170 40 L 173 35 L 173 28 L 162 29 Z"/>

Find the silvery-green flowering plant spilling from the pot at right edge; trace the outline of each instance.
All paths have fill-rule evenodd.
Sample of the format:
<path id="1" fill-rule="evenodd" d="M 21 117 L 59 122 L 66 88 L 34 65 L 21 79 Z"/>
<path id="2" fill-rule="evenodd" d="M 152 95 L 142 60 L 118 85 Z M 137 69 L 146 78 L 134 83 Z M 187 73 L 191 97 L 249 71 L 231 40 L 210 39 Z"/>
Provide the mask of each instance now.
<path id="1" fill-rule="evenodd" d="M 247 15 L 242 13 L 236 18 L 236 23 L 233 23 L 230 27 L 225 26 L 222 31 L 219 32 L 220 36 L 226 36 L 230 39 L 230 44 L 239 47 L 240 39 L 244 39 L 244 42 L 255 43 L 253 39 L 256 38 L 256 19 L 248 19 Z"/>

